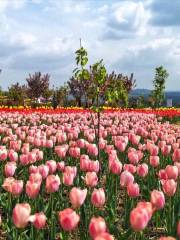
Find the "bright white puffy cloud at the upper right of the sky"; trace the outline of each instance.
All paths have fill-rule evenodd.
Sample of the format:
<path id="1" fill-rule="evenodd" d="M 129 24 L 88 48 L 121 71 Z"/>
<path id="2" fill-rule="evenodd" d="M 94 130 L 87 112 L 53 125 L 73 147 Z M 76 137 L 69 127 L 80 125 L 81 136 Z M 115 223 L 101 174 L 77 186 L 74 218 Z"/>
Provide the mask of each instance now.
<path id="1" fill-rule="evenodd" d="M 143 1 L 122 1 L 111 6 L 107 16 L 105 39 L 144 36 L 148 31 L 151 13 Z"/>

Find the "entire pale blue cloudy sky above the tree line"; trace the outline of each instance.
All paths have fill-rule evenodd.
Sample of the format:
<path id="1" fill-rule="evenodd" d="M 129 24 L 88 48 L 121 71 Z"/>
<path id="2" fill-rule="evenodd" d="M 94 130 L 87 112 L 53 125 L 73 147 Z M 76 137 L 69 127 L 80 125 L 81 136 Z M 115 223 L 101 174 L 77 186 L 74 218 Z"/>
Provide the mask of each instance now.
<path id="1" fill-rule="evenodd" d="M 108 71 L 133 72 L 138 88 L 151 89 L 163 65 L 167 89 L 180 90 L 180 0 L 0 0 L 0 85 L 35 71 L 62 85 L 79 38 L 90 63 L 103 58 Z"/>

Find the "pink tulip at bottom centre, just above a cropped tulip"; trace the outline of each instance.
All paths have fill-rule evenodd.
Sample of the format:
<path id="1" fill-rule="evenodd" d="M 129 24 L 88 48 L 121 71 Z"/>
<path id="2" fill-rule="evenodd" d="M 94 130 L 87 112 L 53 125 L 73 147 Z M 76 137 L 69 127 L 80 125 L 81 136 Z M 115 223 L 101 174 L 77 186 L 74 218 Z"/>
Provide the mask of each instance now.
<path id="1" fill-rule="evenodd" d="M 102 217 L 93 217 L 89 224 L 89 234 L 94 239 L 107 230 L 106 222 Z"/>

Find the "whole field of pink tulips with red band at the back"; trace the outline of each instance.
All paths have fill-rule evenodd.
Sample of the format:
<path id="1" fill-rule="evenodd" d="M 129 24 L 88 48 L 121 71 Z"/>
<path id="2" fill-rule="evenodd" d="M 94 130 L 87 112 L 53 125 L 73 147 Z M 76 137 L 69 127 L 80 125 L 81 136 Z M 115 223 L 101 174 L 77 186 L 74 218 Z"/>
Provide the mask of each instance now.
<path id="1" fill-rule="evenodd" d="M 165 115 L 1 109 L 0 239 L 180 239 L 180 127 Z"/>

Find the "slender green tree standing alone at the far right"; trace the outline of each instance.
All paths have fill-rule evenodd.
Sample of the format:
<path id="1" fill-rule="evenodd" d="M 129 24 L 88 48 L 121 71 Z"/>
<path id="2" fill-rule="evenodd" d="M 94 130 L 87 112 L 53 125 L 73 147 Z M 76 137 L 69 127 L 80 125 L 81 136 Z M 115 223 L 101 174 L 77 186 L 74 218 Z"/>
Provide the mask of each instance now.
<path id="1" fill-rule="evenodd" d="M 152 99 L 154 107 L 160 107 L 165 97 L 165 82 L 169 74 L 163 66 L 155 69 L 155 77 L 153 80 L 154 90 L 152 91 Z"/>

